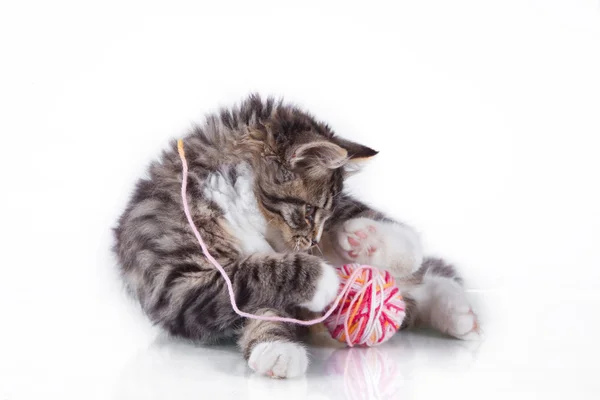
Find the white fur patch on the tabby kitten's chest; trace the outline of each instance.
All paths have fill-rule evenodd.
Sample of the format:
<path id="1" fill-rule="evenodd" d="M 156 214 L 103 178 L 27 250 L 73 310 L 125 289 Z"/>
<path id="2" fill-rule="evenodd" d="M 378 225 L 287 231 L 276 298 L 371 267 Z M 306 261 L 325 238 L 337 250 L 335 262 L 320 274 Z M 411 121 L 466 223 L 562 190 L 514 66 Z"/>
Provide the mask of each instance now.
<path id="1" fill-rule="evenodd" d="M 267 223 L 254 195 L 254 174 L 247 165 L 235 167 L 236 179 L 214 172 L 204 186 L 204 195 L 225 212 L 231 232 L 239 239 L 244 254 L 273 251 L 265 240 Z"/>

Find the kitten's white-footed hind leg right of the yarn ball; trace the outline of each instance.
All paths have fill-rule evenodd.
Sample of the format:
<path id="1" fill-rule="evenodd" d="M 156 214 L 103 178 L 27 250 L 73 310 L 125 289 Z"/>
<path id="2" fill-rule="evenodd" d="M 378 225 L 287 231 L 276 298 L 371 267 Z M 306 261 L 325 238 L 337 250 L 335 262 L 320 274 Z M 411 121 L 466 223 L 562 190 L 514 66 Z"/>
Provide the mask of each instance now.
<path id="1" fill-rule="evenodd" d="M 481 338 L 477 315 L 453 266 L 428 258 L 398 283 L 407 303 L 403 327 L 422 325 L 463 340 Z"/>

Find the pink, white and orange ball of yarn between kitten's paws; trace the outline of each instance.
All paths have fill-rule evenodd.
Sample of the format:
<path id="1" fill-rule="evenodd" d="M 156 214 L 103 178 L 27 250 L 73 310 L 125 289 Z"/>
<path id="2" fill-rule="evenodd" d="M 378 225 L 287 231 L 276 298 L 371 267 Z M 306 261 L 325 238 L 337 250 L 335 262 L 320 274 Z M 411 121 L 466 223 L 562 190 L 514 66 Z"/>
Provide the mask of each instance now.
<path id="1" fill-rule="evenodd" d="M 385 342 L 402 324 L 405 304 L 388 271 L 368 265 L 338 268 L 342 298 L 325 320 L 331 337 L 348 346 L 374 346 Z"/>

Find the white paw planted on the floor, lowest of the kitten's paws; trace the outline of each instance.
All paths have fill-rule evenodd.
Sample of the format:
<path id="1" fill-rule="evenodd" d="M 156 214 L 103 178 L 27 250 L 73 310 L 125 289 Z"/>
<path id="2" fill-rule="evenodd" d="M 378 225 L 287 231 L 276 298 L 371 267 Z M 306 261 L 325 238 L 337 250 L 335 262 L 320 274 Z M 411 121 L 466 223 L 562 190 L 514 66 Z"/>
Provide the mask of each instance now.
<path id="1" fill-rule="evenodd" d="M 298 343 L 262 342 L 252 349 L 248 365 L 259 374 L 272 378 L 294 378 L 306 373 L 308 355 Z"/>

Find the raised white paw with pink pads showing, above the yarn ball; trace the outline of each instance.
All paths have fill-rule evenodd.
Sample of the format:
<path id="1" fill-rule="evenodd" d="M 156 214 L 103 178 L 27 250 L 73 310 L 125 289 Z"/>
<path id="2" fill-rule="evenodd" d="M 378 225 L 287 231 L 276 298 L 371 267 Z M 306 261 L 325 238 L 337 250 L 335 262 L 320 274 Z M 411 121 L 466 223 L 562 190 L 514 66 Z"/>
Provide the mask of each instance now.
<path id="1" fill-rule="evenodd" d="M 397 276 L 416 271 L 423 261 L 419 237 L 405 225 L 355 218 L 344 223 L 336 242 L 346 260 L 386 268 Z"/>

